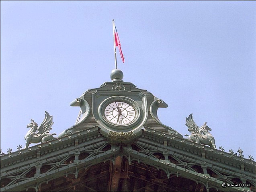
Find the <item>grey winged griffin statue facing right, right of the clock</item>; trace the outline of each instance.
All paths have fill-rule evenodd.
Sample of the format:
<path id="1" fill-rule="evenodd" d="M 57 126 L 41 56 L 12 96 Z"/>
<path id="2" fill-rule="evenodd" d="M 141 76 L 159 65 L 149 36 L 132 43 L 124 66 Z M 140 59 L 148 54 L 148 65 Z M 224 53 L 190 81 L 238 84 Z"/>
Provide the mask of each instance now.
<path id="1" fill-rule="evenodd" d="M 197 144 L 209 145 L 212 148 L 216 149 L 215 139 L 212 134 L 209 133 L 211 128 L 209 128 L 205 122 L 201 127 L 197 126 L 197 124 L 193 120 L 192 114 L 186 118 L 186 126 L 188 127 L 188 131 L 191 132 L 191 135 L 188 136 L 188 140 L 195 142 Z"/>

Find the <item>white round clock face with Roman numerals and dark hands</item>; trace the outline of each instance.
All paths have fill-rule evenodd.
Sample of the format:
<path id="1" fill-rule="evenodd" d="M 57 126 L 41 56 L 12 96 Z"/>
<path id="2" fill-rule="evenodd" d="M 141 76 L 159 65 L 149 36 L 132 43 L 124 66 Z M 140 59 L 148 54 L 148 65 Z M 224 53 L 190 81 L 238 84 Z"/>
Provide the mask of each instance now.
<path id="1" fill-rule="evenodd" d="M 116 101 L 106 106 L 104 116 L 111 124 L 127 125 L 135 120 L 136 110 L 131 104 Z"/>

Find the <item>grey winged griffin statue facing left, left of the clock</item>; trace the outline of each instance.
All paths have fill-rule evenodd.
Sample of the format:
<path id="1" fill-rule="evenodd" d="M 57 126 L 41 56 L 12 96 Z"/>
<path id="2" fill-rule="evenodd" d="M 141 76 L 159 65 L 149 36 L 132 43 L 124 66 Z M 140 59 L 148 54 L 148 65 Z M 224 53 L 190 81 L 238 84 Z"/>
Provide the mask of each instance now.
<path id="1" fill-rule="evenodd" d="M 55 139 L 53 136 L 56 135 L 55 133 L 50 134 L 50 130 L 52 129 L 51 126 L 53 124 L 52 116 L 49 115 L 47 111 L 45 111 L 45 119 L 41 123 L 41 125 L 37 126 L 37 123 L 31 119 L 31 123 L 27 125 L 27 128 L 30 128 L 30 130 L 25 135 L 26 140 L 26 147 L 29 147 L 29 144 L 31 143 L 43 143 L 47 142 L 49 140 Z"/>

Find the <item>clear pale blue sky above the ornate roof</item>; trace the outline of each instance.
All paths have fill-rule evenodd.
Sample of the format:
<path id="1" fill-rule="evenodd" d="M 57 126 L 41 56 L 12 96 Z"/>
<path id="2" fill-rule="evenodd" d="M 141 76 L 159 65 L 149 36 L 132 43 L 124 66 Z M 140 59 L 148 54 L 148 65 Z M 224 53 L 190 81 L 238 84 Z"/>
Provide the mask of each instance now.
<path id="1" fill-rule="evenodd" d="M 183 136 L 207 122 L 216 146 L 256 157 L 255 1 L 1 1 L 1 149 L 25 147 L 26 126 L 75 124 L 70 102 L 111 81 L 112 20 L 125 82 L 164 100 L 160 121 Z M 184 136 L 184 138 L 186 138 Z M 32 146 L 32 145 L 30 145 Z"/>

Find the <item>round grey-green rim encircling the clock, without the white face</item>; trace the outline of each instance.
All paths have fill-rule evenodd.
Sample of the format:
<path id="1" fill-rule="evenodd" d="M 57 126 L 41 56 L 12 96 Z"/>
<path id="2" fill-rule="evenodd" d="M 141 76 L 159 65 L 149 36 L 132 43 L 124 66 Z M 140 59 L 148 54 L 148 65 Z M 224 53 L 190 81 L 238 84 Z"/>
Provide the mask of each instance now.
<path id="1" fill-rule="evenodd" d="M 129 122 L 128 124 L 123 124 L 123 125 L 115 124 L 115 123 L 112 123 L 109 120 L 107 120 L 107 118 L 104 115 L 104 110 L 112 102 L 126 102 L 127 104 L 130 104 L 135 110 L 135 118 L 131 122 Z M 111 126 L 128 127 L 128 126 L 131 126 L 131 125 L 135 124 L 139 120 L 140 108 L 139 108 L 139 105 L 134 100 L 132 100 L 131 98 L 127 98 L 127 97 L 124 97 L 124 96 L 113 96 L 111 98 L 107 98 L 104 101 L 102 101 L 102 103 L 100 104 L 100 106 L 98 108 L 98 113 L 99 113 L 100 118 L 102 120 L 104 120 L 105 123 L 107 123 Z"/>

